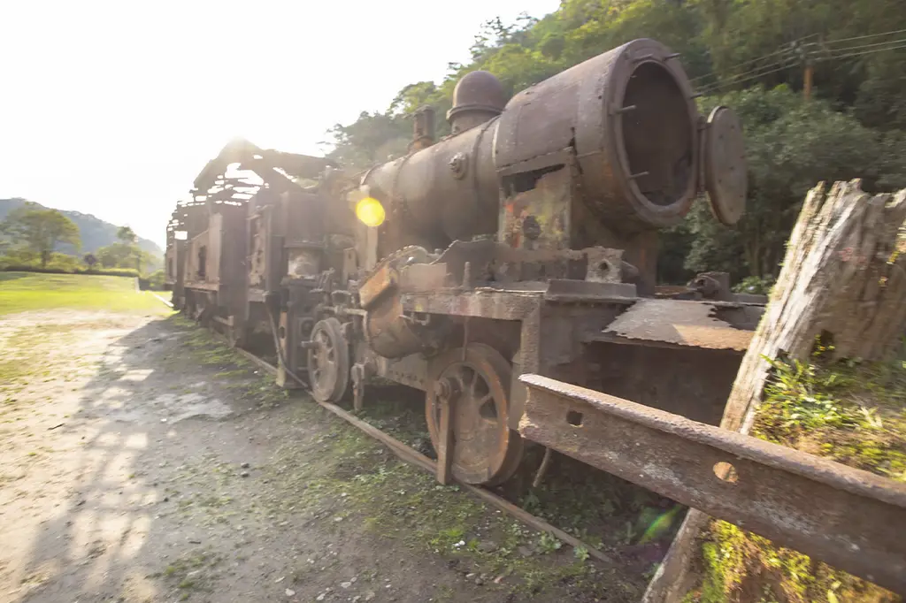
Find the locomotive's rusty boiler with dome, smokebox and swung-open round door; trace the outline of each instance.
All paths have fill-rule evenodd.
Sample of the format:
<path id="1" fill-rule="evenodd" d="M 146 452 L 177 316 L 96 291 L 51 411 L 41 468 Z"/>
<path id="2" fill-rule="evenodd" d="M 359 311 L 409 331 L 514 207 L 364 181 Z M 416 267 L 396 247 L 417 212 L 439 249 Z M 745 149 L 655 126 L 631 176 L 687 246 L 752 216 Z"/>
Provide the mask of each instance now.
<path id="1" fill-rule="evenodd" d="M 625 250 L 651 284 L 650 233 L 676 224 L 706 182 L 728 224 L 745 200 L 737 120 L 727 109 L 703 120 L 694 97 L 678 56 L 651 40 L 509 102 L 493 75 L 469 73 L 454 92 L 452 135 L 362 180 L 395 214 L 379 254 L 476 235 L 526 249 L 602 245 Z M 539 187 L 561 198 L 524 195 Z"/>

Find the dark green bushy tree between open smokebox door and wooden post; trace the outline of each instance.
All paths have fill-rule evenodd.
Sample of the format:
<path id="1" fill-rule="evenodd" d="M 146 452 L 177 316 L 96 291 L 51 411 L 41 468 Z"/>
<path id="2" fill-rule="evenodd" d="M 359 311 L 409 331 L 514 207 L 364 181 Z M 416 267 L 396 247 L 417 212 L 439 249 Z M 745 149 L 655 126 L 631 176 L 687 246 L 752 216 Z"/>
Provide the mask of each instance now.
<path id="1" fill-rule="evenodd" d="M 707 204 L 693 208 L 687 219 L 693 242 L 686 260 L 693 271 L 776 274 L 805 193 L 815 183 L 861 177 L 863 187 L 871 190 L 879 180 L 896 177 L 879 170 L 885 164 L 881 135 L 827 102 L 806 102 L 779 86 L 702 103 L 706 114 L 718 104 L 734 107 L 746 131 L 747 209 L 739 224 L 727 229 L 711 217 Z"/>

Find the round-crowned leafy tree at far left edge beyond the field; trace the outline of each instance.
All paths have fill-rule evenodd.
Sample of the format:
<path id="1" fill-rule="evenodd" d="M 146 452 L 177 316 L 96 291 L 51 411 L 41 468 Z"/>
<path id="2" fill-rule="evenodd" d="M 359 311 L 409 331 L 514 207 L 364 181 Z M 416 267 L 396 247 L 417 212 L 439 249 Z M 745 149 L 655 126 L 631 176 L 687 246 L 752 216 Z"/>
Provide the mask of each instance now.
<path id="1" fill-rule="evenodd" d="M 58 244 L 68 243 L 76 248 L 82 244 L 79 227 L 72 220 L 55 209 L 42 209 L 32 202 L 16 207 L 6 215 L 0 230 L 13 244 L 40 255 L 42 268 L 47 267 Z"/>

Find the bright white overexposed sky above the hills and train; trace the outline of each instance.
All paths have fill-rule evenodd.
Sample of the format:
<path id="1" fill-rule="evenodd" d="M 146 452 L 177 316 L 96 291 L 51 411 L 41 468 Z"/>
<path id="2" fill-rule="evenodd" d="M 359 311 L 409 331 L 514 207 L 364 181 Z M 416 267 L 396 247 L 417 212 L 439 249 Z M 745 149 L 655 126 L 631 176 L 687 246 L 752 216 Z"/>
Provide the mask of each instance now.
<path id="1" fill-rule="evenodd" d="M 466 62 L 480 25 L 558 0 L 0 1 L 0 198 L 130 225 L 233 137 L 320 154 L 337 122 Z"/>

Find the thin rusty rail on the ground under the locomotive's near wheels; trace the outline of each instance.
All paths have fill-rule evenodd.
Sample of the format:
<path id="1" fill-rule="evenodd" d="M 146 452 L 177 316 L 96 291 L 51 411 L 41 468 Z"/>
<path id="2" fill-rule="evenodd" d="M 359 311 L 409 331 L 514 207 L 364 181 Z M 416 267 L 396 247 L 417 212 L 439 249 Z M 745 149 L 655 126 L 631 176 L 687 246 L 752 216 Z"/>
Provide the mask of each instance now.
<path id="1" fill-rule="evenodd" d="M 216 336 L 223 343 L 228 345 L 229 342 L 228 340 L 226 340 L 226 337 L 224 337 L 220 333 L 216 333 Z M 267 373 L 276 376 L 277 368 L 267 360 L 256 356 L 253 352 L 247 349 L 233 349 L 235 349 L 236 352 L 238 352 L 239 355 L 241 355 L 243 358 L 253 362 L 260 369 L 263 369 Z M 310 388 L 306 383 L 304 383 L 304 381 L 302 381 L 301 379 L 296 380 L 299 382 L 300 387 L 303 388 L 304 391 L 310 393 Z M 377 427 L 372 426 L 366 421 L 361 420 L 361 418 L 359 418 L 358 416 L 352 415 L 352 413 L 342 407 L 338 407 L 337 405 L 330 402 L 320 402 L 318 400 L 315 400 L 313 397 L 312 401 L 323 407 L 325 410 L 333 413 L 333 415 L 339 416 L 340 418 L 342 418 L 342 420 L 356 427 L 371 438 L 377 440 L 378 442 L 381 442 L 382 445 L 387 446 L 387 448 L 390 449 L 390 452 L 400 458 L 401 461 L 416 466 L 419 469 L 422 469 L 432 475 L 436 475 L 438 473 L 437 461 L 430 459 L 426 455 L 422 455 L 418 450 L 412 448 L 410 445 L 407 445 L 397 438 L 384 433 L 383 431 L 381 431 L 381 429 L 378 429 Z M 547 458 L 549 459 L 549 456 Z M 592 546 L 588 542 L 576 538 L 572 534 L 569 534 L 561 530 L 560 528 L 557 528 L 549 522 L 545 522 L 545 520 L 541 519 L 540 517 L 537 517 L 530 512 L 526 512 L 525 509 L 516 506 L 516 504 L 510 503 L 502 496 L 499 496 L 498 494 L 493 493 L 486 488 L 462 482 L 457 482 L 457 485 L 466 492 L 476 496 L 484 503 L 491 505 L 500 512 L 505 512 L 510 517 L 513 517 L 517 521 L 524 523 L 526 526 L 532 528 L 533 530 L 549 533 L 560 541 L 563 541 L 564 543 L 570 545 L 571 547 L 573 547 L 573 549 L 582 548 L 584 550 L 587 550 L 588 554 L 591 557 L 593 557 L 595 560 L 601 561 L 602 563 L 608 565 L 613 565 L 615 563 L 615 560 L 612 558 L 612 556 L 608 555 L 602 550 Z"/>

